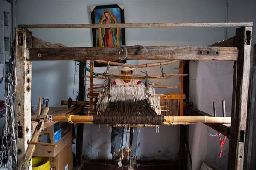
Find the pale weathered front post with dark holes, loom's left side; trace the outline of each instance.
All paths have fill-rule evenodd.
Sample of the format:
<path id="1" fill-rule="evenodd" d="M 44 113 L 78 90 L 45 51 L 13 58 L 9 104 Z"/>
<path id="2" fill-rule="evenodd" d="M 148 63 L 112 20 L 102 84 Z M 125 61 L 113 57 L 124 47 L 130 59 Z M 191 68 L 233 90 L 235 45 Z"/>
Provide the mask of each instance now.
<path id="1" fill-rule="evenodd" d="M 26 48 L 32 46 L 32 33 L 16 30 L 16 112 L 18 169 L 24 163 L 24 154 L 31 139 L 31 73 L 32 62 L 26 61 Z"/>

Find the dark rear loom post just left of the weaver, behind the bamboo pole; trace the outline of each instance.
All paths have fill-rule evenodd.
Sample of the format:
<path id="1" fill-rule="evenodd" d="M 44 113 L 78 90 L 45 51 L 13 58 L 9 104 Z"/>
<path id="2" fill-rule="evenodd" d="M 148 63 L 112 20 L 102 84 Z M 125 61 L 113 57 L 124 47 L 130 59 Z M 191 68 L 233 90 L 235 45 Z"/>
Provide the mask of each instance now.
<path id="1" fill-rule="evenodd" d="M 82 75 L 85 74 L 84 66 L 86 66 L 86 61 L 79 63 L 79 86 L 78 86 L 78 100 L 84 101 L 85 97 L 85 81 Z M 84 107 L 81 107 L 81 113 L 84 114 Z M 76 165 L 80 166 L 82 164 L 82 153 L 83 153 L 83 138 L 84 138 L 84 124 L 80 123 L 76 130 Z"/>

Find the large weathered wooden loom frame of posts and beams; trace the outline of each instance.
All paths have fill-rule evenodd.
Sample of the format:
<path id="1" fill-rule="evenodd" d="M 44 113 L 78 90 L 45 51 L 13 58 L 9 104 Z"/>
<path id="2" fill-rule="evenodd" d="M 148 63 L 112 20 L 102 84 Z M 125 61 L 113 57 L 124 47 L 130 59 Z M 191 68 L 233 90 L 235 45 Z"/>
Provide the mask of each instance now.
<path id="1" fill-rule="evenodd" d="M 184 49 L 189 49 L 187 55 L 180 57 L 182 54 L 178 48 L 173 48 L 171 51 L 169 49 L 163 49 L 161 54 L 152 54 L 150 59 L 177 59 L 181 60 L 180 65 L 184 65 L 184 61 L 187 60 L 233 60 L 234 61 L 234 79 L 233 79 L 233 96 L 232 96 L 232 118 L 231 126 L 218 125 L 218 124 L 206 124 L 207 126 L 217 130 L 219 127 L 220 133 L 230 137 L 229 145 L 229 158 L 228 158 L 228 169 L 229 170 L 240 170 L 243 168 L 244 162 L 244 143 L 246 135 L 246 123 L 247 123 L 247 96 L 248 96 L 248 84 L 249 84 L 249 72 L 250 72 L 250 47 L 251 47 L 251 31 L 253 23 L 143 23 L 143 24 L 115 24 L 115 27 L 122 28 L 148 28 L 148 27 L 239 27 L 236 29 L 236 35 L 230 37 L 227 40 L 216 42 L 213 45 L 205 47 L 184 47 Z M 18 165 L 19 169 L 24 162 L 24 154 L 28 147 L 27 141 L 31 139 L 31 82 L 32 82 L 32 61 L 44 60 L 73 60 L 76 59 L 80 62 L 79 67 L 79 100 L 84 100 L 84 80 L 80 77 L 83 73 L 83 65 L 86 60 L 91 59 L 88 55 L 98 54 L 96 59 L 104 59 L 99 57 L 100 52 L 95 52 L 97 50 L 95 47 L 90 48 L 77 48 L 75 54 L 80 57 L 68 57 L 64 53 L 68 52 L 71 48 L 65 47 L 61 44 L 51 44 L 37 37 L 32 36 L 32 32 L 28 28 L 103 28 L 103 27 L 113 27 L 109 24 L 52 24 L 52 25 L 19 25 L 16 29 L 16 70 L 17 70 L 17 86 L 16 86 L 16 102 L 17 102 L 17 150 L 18 150 Z M 47 48 L 47 51 L 52 53 L 47 53 L 42 47 Z M 129 47 L 128 47 L 129 48 Z M 84 50 L 91 50 L 86 55 Z M 111 48 L 113 51 L 118 50 L 118 47 Z M 154 49 L 159 49 L 154 47 Z M 214 54 L 196 54 L 195 51 L 209 50 L 219 51 L 221 57 L 216 57 Z M 106 48 L 102 49 L 103 51 Z M 133 48 L 129 48 L 128 51 L 133 51 Z M 32 55 L 32 51 L 34 54 Z M 39 52 L 40 51 L 40 52 Z M 44 52 L 42 52 L 44 51 Z M 37 53 L 37 54 L 36 54 Z M 52 57 L 52 54 L 57 55 Z M 148 59 L 140 54 L 132 54 L 133 57 L 137 59 Z M 171 55 L 172 54 L 172 55 Z M 180 55 L 179 55 L 180 54 Z M 229 57 L 225 54 L 231 54 Z M 50 56 L 50 58 L 49 58 Z M 168 57 L 169 56 L 169 57 Z M 220 56 L 220 55 L 219 55 Z M 112 57 L 112 59 L 115 59 Z M 93 65 L 93 62 L 91 63 Z M 186 68 L 185 68 L 186 69 Z M 91 69 L 93 72 L 93 69 Z M 181 79 L 180 81 L 184 81 Z M 184 87 L 187 89 L 188 87 Z M 183 89 L 180 90 L 182 93 Z M 90 106 L 93 102 L 90 102 Z M 181 107 L 182 109 L 183 107 Z M 83 113 L 83 112 L 80 112 Z M 187 115 L 207 115 L 207 113 L 199 111 L 198 109 L 192 107 L 185 107 L 184 113 Z M 83 124 L 78 126 L 77 133 L 81 136 L 77 139 L 77 154 L 76 160 L 77 164 L 81 165 L 81 151 L 83 140 Z M 180 128 L 180 169 L 185 170 L 187 164 L 187 125 L 181 125 Z"/>

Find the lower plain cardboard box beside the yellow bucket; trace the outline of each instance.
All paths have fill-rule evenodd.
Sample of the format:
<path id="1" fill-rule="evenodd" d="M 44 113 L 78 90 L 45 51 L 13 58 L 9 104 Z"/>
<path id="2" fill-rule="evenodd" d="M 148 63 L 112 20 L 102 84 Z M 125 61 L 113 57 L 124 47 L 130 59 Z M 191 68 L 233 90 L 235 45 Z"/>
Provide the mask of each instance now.
<path id="1" fill-rule="evenodd" d="M 52 170 L 72 170 L 72 140 L 55 157 L 50 157 L 50 161 Z"/>

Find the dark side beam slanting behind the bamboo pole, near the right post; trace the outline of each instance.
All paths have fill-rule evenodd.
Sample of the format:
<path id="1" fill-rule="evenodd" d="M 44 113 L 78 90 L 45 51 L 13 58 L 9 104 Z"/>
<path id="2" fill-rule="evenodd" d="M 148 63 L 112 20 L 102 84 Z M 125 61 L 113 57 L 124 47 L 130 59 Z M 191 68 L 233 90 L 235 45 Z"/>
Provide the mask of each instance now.
<path id="1" fill-rule="evenodd" d="M 212 116 L 208 113 L 205 113 L 193 107 L 185 107 L 184 113 L 191 116 Z M 204 123 L 204 124 L 211 127 L 214 130 L 218 130 L 219 133 L 227 136 L 228 138 L 230 137 L 230 124 L 229 125 L 215 124 L 215 123 Z"/>

